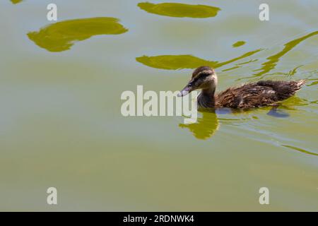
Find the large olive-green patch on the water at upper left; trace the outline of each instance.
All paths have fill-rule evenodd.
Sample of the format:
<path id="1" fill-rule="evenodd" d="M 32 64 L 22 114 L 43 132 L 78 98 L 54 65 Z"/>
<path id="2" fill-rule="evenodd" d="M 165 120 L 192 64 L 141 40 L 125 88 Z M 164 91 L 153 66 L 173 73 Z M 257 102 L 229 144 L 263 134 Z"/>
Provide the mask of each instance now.
<path id="1" fill-rule="evenodd" d="M 74 42 L 87 40 L 94 35 L 119 35 L 127 32 L 118 21 L 110 17 L 65 20 L 41 28 L 39 32 L 29 32 L 28 37 L 49 52 L 62 52 L 70 49 Z"/>

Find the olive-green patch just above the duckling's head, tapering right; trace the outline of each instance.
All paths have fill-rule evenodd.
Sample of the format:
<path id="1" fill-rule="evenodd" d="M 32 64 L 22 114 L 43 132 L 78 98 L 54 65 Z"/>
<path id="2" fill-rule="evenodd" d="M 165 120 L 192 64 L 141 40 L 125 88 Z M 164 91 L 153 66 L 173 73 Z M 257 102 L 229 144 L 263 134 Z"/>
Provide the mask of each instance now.
<path id="1" fill-rule="evenodd" d="M 143 56 L 136 57 L 136 61 L 146 66 L 150 66 L 155 69 L 166 69 L 166 70 L 178 70 L 178 69 L 196 69 L 199 66 L 206 65 L 213 68 L 218 68 L 226 64 L 230 64 L 239 59 L 249 57 L 262 49 L 257 49 L 251 52 L 247 52 L 240 57 L 235 57 L 224 62 L 218 61 L 207 61 L 205 59 L 200 59 L 199 57 L 194 57 L 192 55 L 160 55 L 160 56 Z"/>

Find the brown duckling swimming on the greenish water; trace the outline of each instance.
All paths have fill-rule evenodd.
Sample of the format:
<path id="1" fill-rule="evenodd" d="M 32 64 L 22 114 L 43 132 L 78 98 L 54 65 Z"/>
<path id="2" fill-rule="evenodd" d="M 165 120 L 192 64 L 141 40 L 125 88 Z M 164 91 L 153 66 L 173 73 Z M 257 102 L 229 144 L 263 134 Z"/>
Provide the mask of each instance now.
<path id="1" fill-rule="evenodd" d="M 300 81 L 258 81 L 246 83 L 216 94 L 218 76 L 209 66 L 200 66 L 192 73 L 192 78 L 179 97 L 193 90 L 201 89 L 198 95 L 199 108 L 249 109 L 253 107 L 276 106 L 278 102 L 288 99 L 300 90 L 305 80 Z"/>

